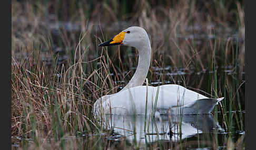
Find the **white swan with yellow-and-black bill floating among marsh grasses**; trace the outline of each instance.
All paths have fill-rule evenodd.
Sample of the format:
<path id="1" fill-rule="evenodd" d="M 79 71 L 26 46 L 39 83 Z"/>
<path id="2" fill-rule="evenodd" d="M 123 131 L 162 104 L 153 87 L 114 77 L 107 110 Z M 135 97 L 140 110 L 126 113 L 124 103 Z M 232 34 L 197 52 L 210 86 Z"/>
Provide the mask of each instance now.
<path id="1" fill-rule="evenodd" d="M 139 63 L 130 82 L 119 92 L 94 103 L 96 114 L 209 114 L 223 98 L 211 99 L 176 84 L 142 86 L 150 67 L 149 36 L 141 27 L 129 27 L 99 46 L 125 45 L 139 51 Z M 147 105 L 146 105 L 147 102 Z"/>

